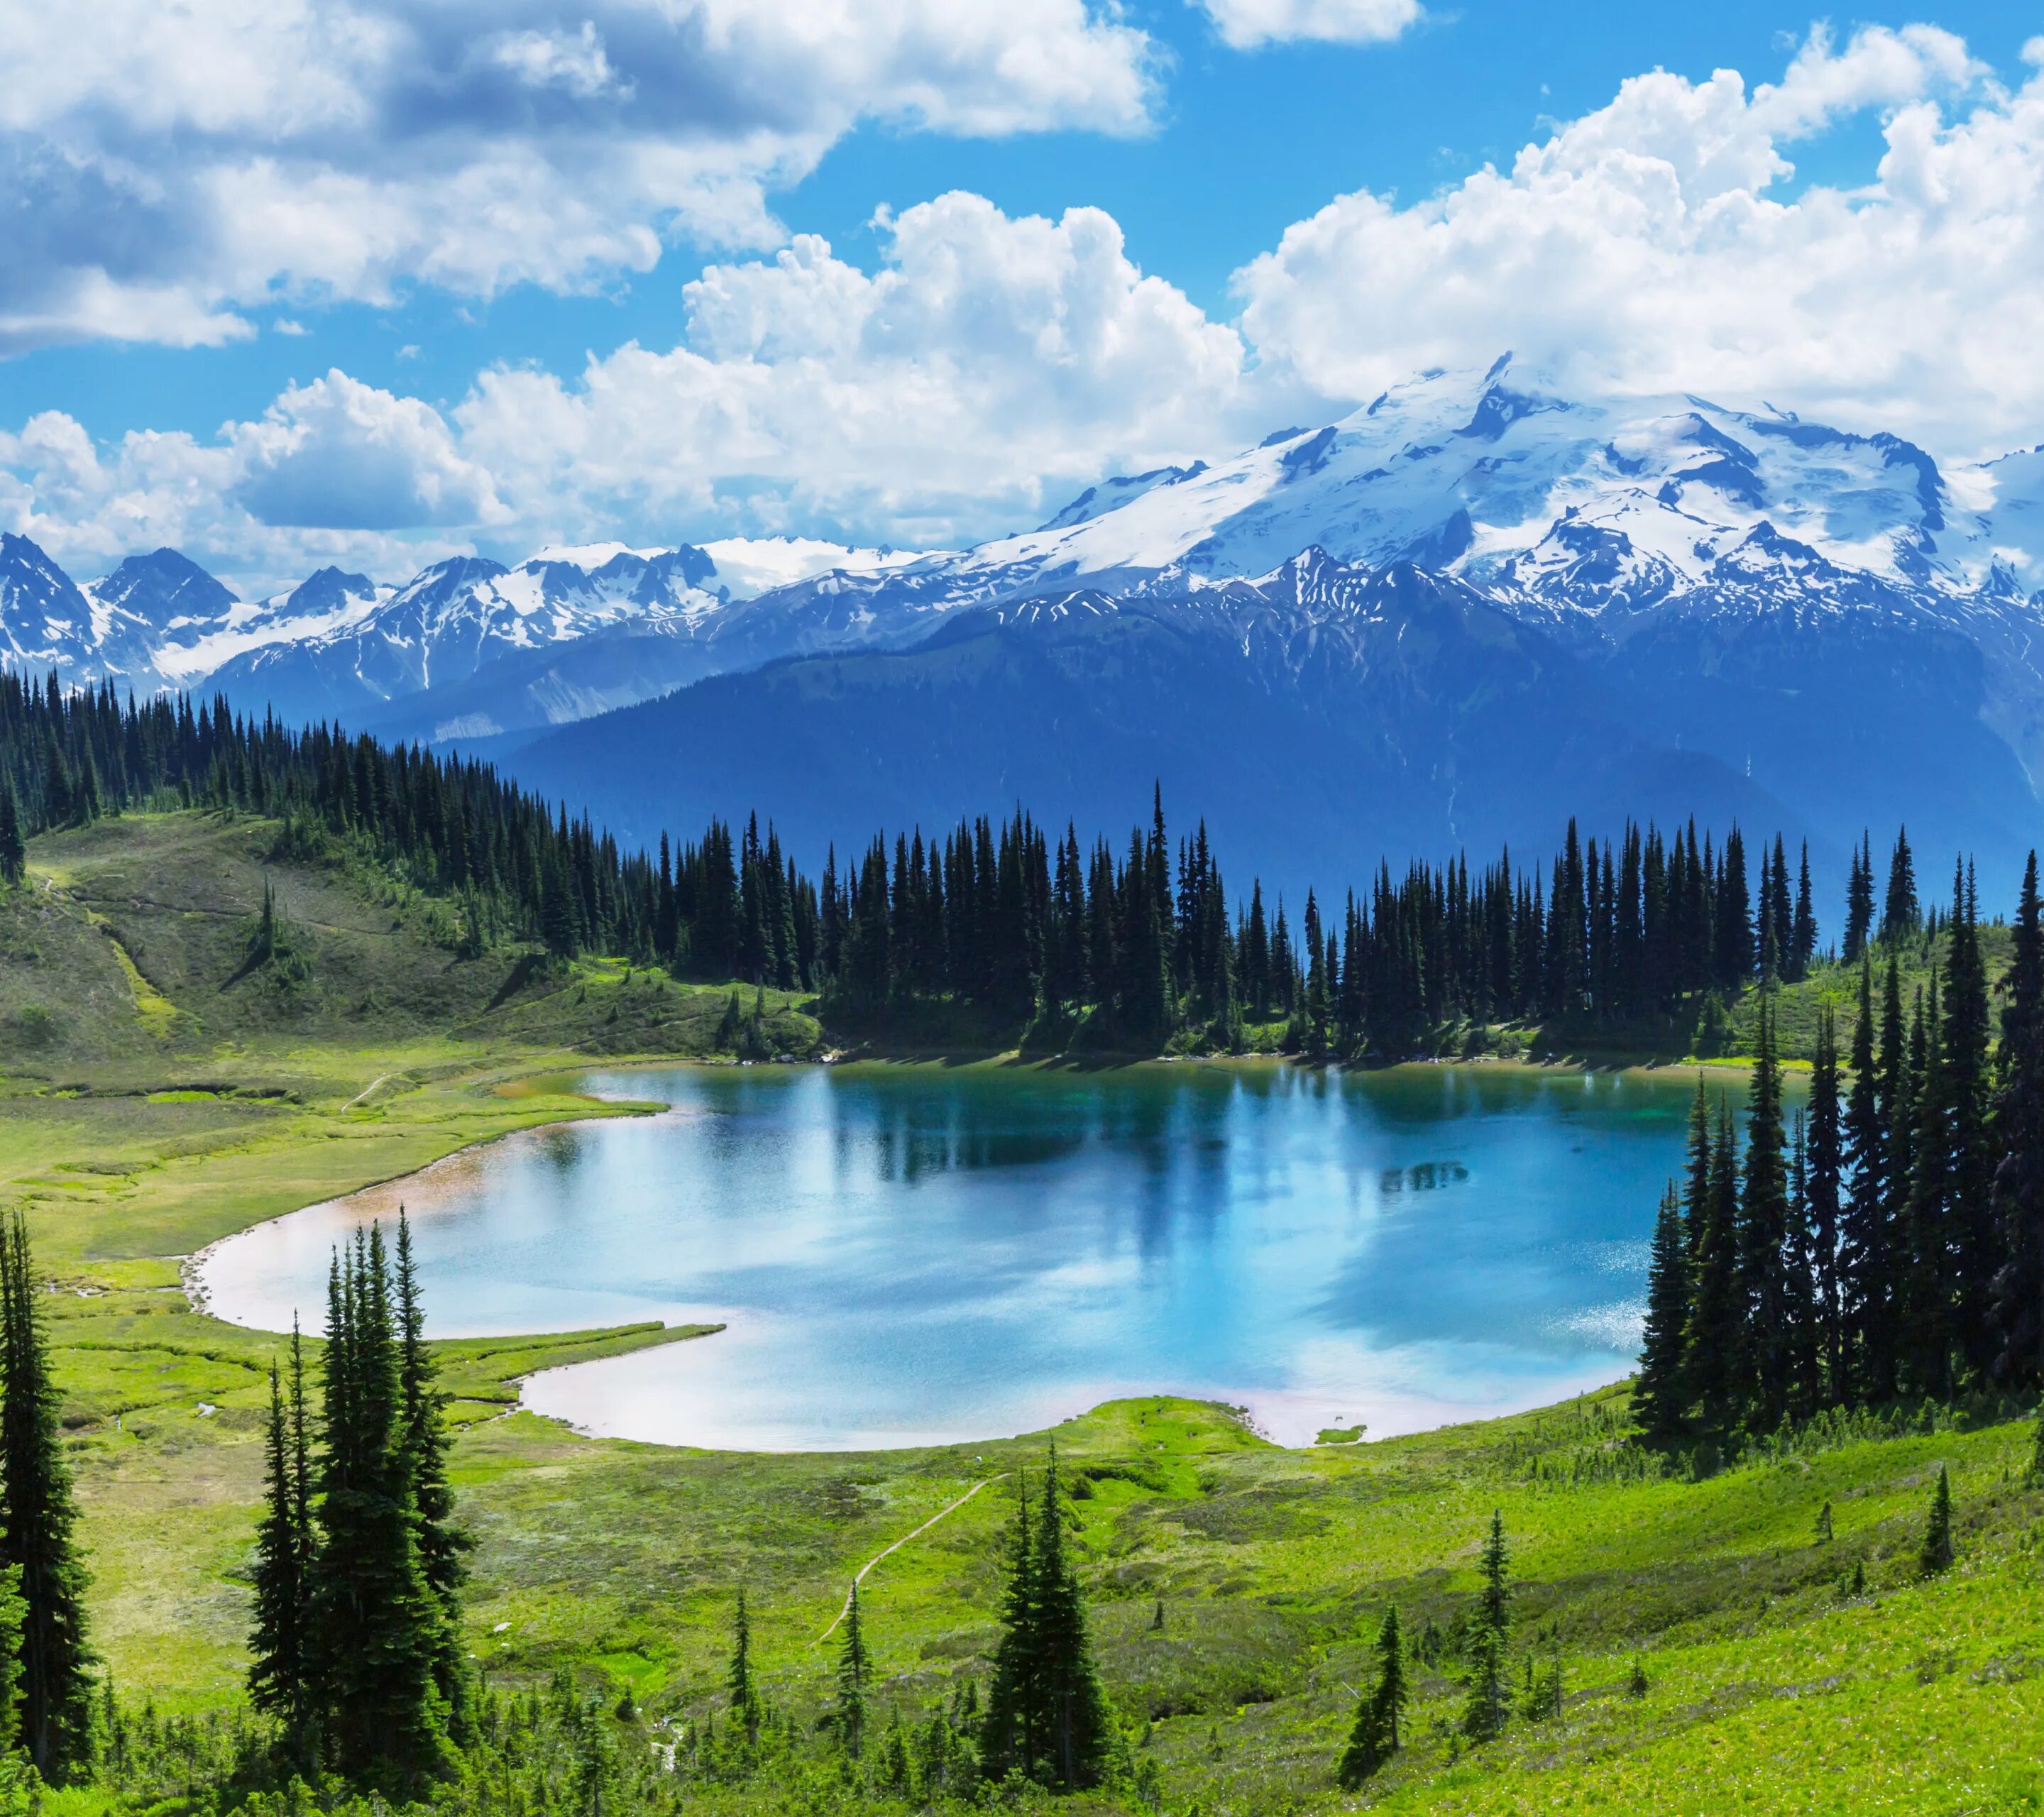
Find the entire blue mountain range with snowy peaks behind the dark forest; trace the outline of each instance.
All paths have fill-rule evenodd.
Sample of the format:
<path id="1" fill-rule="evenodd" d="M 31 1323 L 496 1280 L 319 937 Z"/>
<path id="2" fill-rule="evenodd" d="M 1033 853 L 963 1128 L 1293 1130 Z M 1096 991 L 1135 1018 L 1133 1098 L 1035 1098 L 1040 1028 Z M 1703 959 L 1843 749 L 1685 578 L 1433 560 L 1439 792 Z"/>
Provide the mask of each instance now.
<path id="1" fill-rule="evenodd" d="M 2044 450 L 1948 472 L 1506 358 L 963 552 L 599 546 L 247 603 L 172 550 L 78 587 L 10 535 L 0 658 L 464 742 L 628 836 L 754 803 L 801 850 L 1014 799 L 1110 828 L 1161 779 L 1294 885 L 1574 811 L 1782 828 L 1825 877 L 1905 820 L 2003 887 L 2040 585 Z"/>

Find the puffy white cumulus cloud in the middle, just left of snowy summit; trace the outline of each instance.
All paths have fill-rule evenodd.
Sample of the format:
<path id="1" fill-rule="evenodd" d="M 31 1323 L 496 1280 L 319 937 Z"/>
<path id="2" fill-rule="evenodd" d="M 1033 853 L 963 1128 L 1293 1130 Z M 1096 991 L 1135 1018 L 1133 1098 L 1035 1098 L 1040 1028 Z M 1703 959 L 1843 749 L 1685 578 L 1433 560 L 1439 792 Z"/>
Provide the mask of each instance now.
<path id="1" fill-rule="evenodd" d="M 550 533 L 570 511 L 955 542 L 1020 527 L 1104 464 L 1249 427 L 1237 333 L 1139 272 L 1098 208 L 938 196 L 887 223 L 877 272 L 803 235 L 707 270 L 687 319 L 683 345 L 572 382 L 478 380 L 456 417 L 513 511 Z"/>

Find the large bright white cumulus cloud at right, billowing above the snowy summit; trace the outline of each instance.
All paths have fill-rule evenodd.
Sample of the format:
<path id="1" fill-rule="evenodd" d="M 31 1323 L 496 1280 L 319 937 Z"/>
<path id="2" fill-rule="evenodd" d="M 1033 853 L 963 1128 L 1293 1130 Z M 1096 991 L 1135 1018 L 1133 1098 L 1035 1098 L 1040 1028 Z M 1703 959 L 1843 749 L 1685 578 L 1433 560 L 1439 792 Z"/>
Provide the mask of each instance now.
<path id="1" fill-rule="evenodd" d="M 1511 170 L 1367 190 L 1237 274 L 1261 360 L 1329 397 L 1515 347 L 1582 392 L 1768 399 L 1946 454 L 2036 439 L 2044 78 L 1930 27 L 1811 37 L 1778 84 L 1654 72 Z M 1878 108 L 1868 182 L 1791 151 Z"/>

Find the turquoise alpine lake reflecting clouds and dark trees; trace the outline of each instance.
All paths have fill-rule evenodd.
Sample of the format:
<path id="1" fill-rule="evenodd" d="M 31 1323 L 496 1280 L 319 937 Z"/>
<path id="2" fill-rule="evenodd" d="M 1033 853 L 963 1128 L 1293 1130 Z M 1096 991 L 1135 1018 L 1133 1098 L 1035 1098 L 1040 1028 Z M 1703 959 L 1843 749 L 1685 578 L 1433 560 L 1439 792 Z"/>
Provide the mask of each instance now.
<path id="1" fill-rule="evenodd" d="M 442 1335 L 726 1320 L 527 1384 L 595 1433 L 865 1449 L 1169 1390 L 1288 1443 L 1382 1437 L 1629 1371 L 1694 1079 L 677 1067 L 587 1089 L 670 1110 L 249 1230 L 202 1263 L 213 1308 L 315 1326 L 333 1241 L 403 1200 Z"/>

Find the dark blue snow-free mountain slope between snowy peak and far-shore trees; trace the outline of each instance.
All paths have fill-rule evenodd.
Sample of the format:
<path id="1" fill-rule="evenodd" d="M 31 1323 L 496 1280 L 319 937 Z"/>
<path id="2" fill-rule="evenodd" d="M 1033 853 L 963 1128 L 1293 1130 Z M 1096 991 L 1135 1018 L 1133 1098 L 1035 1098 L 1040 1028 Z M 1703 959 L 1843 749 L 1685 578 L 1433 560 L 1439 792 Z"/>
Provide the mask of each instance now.
<path id="1" fill-rule="evenodd" d="M 877 826 L 1026 803 L 1122 828 L 1161 783 L 1230 863 L 1284 885 L 1365 885 L 1384 852 L 1551 838 L 1555 799 L 1627 813 L 1793 824 L 1725 762 L 1656 748 L 1598 707 L 1537 630 L 1416 568 L 1294 564 L 1331 609 L 1280 630 L 1273 593 L 1181 611 L 1098 593 L 963 613 L 910 650 L 789 658 L 560 728 L 521 781 L 632 836 L 771 809 L 803 854 Z M 1212 636 L 1190 613 L 1224 615 Z M 1269 623 L 1257 623 L 1269 613 Z M 1275 644 L 1284 648 L 1275 648 Z"/>

